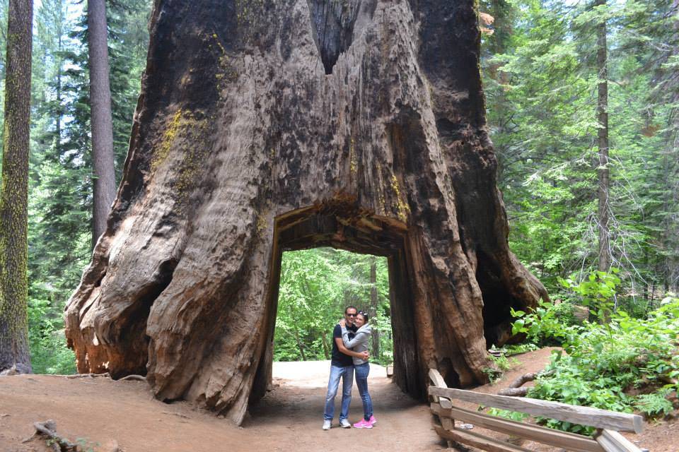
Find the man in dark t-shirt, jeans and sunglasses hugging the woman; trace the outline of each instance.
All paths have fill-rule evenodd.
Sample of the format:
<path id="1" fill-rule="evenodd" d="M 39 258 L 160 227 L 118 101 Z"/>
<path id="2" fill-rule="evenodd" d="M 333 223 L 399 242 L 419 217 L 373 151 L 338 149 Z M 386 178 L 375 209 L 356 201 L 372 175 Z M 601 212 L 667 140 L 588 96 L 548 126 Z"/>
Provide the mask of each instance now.
<path id="1" fill-rule="evenodd" d="M 344 320 L 347 321 L 347 329 L 351 331 L 349 337 L 356 332 L 354 319 L 357 309 L 347 306 L 344 309 Z M 330 379 L 327 382 L 327 394 L 325 395 L 325 412 L 323 412 L 323 430 L 330 430 L 332 417 L 335 415 L 335 396 L 342 379 L 342 410 L 340 411 L 340 427 L 348 429 L 352 424 L 347 420 L 349 415 L 349 403 L 352 403 L 352 386 L 354 386 L 354 361 L 352 357 L 368 359 L 368 352 L 352 352 L 344 347 L 342 342 L 342 328 L 335 325 L 332 331 L 332 361 L 330 362 Z"/>

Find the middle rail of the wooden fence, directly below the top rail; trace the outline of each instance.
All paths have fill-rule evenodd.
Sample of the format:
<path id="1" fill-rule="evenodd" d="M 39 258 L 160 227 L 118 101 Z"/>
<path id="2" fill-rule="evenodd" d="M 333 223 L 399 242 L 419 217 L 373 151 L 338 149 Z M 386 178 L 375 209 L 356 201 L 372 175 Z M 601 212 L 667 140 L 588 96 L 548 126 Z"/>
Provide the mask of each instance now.
<path id="1" fill-rule="evenodd" d="M 575 452 L 603 452 L 603 448 L 591 438 L 579 434 L 559 432 L 559 430 L 540 427 L 539 425 L 516 422 L 501 417 L 484 415 L 480 412 L 453 407 L 446 410 L 436 403 L 431 404 L 431 412 L 439 415 L 441 420 L 452 417 L 455 420 L 469 422 L 477 427 L 493 430 L 530 441 L 564 448 Z M 445 427 L 445 426 L 443 426 Z"/>

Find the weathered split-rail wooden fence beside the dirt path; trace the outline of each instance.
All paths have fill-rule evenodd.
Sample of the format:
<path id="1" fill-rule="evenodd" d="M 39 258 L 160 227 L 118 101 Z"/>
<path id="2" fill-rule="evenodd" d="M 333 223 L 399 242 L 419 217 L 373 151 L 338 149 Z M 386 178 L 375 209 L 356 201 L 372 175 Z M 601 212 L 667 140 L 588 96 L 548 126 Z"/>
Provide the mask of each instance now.
<path id="1" fill-rule="evenodd" d="M 626 413 L 580 407 L 565 403 L 547 402 L 533 398 L 515 398 L 475 393 L 446 386 L 436 369 L 429 369 L 431 412 L 439 417 L 441 424 L 434 424 L 441 438 L 480 448 L 489 452 L 530 452 L 521 446 L 494 439 L 470 430 L 455 428 L 455 420 L 483 427 L 513 437 L 537 441 L 574 452 L 641 452 L 637 446 L 625 439 L 622 432 L 642 432 L 642 417 Z M 594 438 L 574 433 L 540 427 L 535 424 L 516 422 L 482 412 L 455 407 L 453 400 L 478 403 L 486 407 L 523 412 L 529 415 L 573 422 L 574 424 L 596 427 Z"/>

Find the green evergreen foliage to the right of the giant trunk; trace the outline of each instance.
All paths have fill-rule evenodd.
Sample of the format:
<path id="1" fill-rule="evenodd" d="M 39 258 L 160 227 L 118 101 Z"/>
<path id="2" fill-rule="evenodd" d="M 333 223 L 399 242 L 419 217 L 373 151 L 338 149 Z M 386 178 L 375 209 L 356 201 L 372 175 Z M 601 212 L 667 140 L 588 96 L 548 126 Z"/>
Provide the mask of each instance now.
<path id="1" fill-rule="evenodd" d="M 673 1 L 492 0 L 482 74 L 511 249 L 550 293 L 596 268 L 596 32 L 608 25 L 610 244 L 622 297 L 676 290 L 679 84 Z M 660 88 L 662 86 L 662 88 Z"/>

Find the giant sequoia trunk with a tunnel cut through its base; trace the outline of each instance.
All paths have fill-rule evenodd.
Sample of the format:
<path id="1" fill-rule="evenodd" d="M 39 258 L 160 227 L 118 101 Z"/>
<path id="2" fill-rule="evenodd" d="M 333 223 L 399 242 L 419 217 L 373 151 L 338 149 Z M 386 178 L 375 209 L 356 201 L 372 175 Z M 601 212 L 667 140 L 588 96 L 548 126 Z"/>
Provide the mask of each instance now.
<path id="1" fill-rule="evenodd" d="M 282 251 L 388 256 L 395 381 L 484 381 L 507 246 L 471 0 L 158 0 L 108 227 L 66 308 L 79 371 L 236 422 L 270 378 Z"/>

